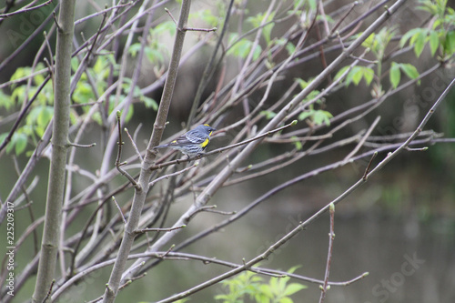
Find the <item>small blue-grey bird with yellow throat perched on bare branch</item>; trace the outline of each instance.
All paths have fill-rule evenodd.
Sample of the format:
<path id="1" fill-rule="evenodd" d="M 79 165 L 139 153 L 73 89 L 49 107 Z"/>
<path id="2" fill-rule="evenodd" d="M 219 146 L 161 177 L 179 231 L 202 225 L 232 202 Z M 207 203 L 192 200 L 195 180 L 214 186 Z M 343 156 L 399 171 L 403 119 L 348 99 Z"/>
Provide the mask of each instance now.
<path id="1" fill-rule="evenodd" d="M 212 133 L 216 130 L 217 129 L 207 124 L 197 126 L 194 129 L 188 130 L 187 133 L 182 136 L 177 137 L 174 141 L 162 146 L 155 146 L 153 148 L 173 148 L 181 151 L 187 155 L 187 157 L 195 157 L 204 152 L 208 142 L 210 142 L 210 136 L 212 136 Z"/>

